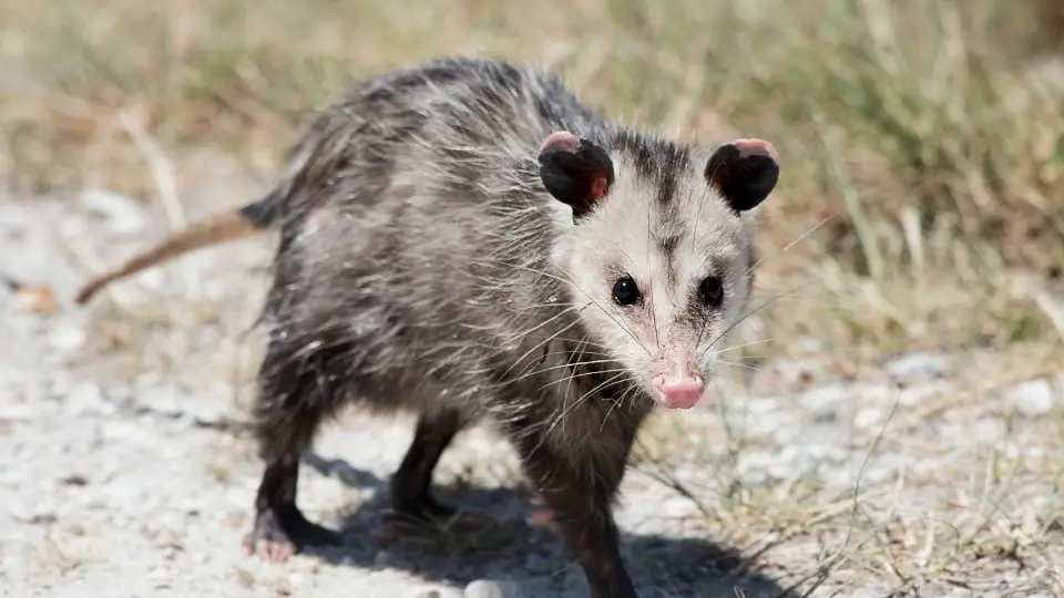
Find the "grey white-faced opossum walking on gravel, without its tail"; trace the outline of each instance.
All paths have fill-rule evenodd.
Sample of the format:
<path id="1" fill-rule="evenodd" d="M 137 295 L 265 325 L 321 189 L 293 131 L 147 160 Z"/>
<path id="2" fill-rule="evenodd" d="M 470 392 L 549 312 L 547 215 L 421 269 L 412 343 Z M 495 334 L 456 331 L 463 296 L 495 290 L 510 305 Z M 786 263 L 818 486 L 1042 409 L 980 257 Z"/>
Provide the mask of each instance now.
<path id="1" fill-rule="evenodd" d="M 417 414 L 391 508 L 474 422 L 514 446 L 591 596 L 636 596 L 613 504 L 654 409 L 703 398 L 745 317 L 773 145 L 703 147 L 582 103 L 546 70 L 438 59 L 357 83 L 289 154 L 262 312 L 248 553 L 340 536 L 296 505 L 300 455 L 357 404 Z"/>

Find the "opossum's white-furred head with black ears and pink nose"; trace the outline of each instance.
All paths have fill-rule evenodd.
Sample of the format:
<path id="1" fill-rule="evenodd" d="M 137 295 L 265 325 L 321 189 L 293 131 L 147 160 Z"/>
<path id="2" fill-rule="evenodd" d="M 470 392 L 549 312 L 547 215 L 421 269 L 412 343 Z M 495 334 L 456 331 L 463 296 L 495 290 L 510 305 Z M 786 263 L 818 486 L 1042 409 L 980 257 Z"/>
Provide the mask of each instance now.
<path id="1" fill-rule="evenodd" d="M 779 176 L 773 146 L 623 134 L 607 150 L 559 132 L 543 142 L 540 174 L 567 206 L 553 259 L 595 350 L 658 404 L 694 406 L 745 316 L 754 221 Z"/>

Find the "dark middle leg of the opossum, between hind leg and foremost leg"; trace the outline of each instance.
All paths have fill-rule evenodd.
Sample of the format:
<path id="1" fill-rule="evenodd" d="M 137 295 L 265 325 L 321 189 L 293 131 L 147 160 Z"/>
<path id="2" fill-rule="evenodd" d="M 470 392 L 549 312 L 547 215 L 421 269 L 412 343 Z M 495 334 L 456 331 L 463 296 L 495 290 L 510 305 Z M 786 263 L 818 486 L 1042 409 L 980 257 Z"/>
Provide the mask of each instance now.
<path id="1" fill-rule="evenodd" d="M 459 512 L 432 496 L 432 473 L 463 424 L 454 410 L 420 415 L 410 447 L 391 478 L 391 516 L 378 532 L 378 543 L 391 542 L 399 533 L 396 526 L 403 523 L 478 527 L 490 520 L 475 512 Z"/>

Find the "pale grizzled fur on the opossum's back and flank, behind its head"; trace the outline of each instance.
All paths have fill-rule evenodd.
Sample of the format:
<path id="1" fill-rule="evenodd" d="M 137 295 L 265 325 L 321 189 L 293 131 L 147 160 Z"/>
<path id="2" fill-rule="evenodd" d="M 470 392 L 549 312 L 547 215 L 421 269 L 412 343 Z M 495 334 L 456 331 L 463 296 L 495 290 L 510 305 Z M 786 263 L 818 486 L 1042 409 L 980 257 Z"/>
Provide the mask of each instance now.
<path id="1" fill-rule="evenodd" d="M 552 78 L 462 59 L 370 80 L 340 113 L 323 121 L 331 142 L 309 161 L 332 162 L 305 179 L 304 212 L 286 225 L 293 249 L 278 255 L 273 301 L 290 306 L 283 318 L 344 322 L 348 338 L 403 361 L 454 358 L 550 317 L 540 306 L 559 300 L 557 283 L 539 272 L 560 207 L 535 156 L 557 128 L 601 136 L 593 112 Z"/>

